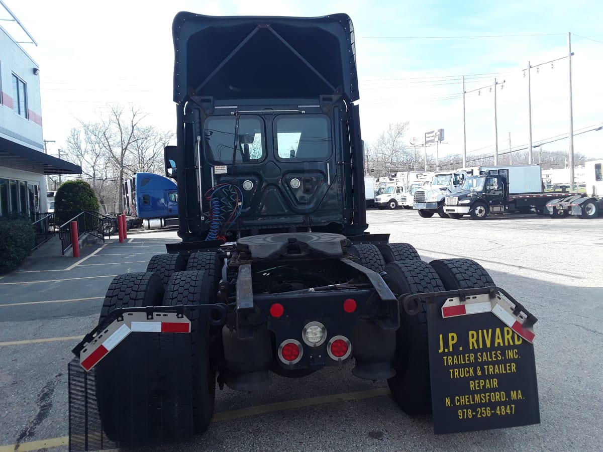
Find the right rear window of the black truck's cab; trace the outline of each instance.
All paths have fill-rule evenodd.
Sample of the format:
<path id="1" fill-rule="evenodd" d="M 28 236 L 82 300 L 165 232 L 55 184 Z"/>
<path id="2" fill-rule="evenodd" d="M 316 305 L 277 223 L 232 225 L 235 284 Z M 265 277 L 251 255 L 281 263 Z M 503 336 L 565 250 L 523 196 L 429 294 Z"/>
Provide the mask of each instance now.
<path id="1" fill-rule="evenodd" d="M 276 118 L 279 159 L 324 160 L 331 153 L 329 121 L 325 116 L 283 115 Z"/>

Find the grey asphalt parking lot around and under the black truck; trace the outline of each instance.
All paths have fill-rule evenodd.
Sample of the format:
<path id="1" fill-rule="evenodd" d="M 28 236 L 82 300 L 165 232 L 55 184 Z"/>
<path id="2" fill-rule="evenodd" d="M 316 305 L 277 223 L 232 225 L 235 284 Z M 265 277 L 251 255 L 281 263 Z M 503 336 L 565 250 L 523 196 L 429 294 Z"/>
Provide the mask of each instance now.
<path id="1" fill-rule="evenodd" d="M 206 434 L 163 450 L 603 450 L 603 218 L 472 221 L 370 210 L 368 222 L 371 233 L 412 243 L 427 262 L 477 260 L 537 316 L 541 424 L 435 436 L 431 418 L 409 418 L 387 383 L 355 378 L 347 365 L 274 376 L 270 389 L 251 394 L 218 391 Z M 144 271 L 178 241 L 175 231 L 128 236 L 86 247 L 80 259 L 45 245 L 0 278 L 0 452 L 68 449 L 71 348 L 95 326 L 112 277 Z"/>

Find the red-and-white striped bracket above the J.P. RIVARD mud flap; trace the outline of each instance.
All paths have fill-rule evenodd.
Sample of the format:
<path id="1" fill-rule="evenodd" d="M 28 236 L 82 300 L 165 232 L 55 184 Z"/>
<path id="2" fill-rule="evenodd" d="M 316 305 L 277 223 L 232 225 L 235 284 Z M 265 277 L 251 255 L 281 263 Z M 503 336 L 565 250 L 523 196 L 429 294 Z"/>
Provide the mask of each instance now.
<path id="1" fill-rule="evenodd" d="M 484 293 L 483 295 L 471 295 L 466 297 L 464 301 L 461 301 L 460 297 L 448 298 L 442 306 L 442 317 L 449 318 L 491 312 L 511 330 L 532 344 L 535 336 L 534 327 L 523 326 L 526 318 L 528 318 L 528 313 L 520 310 L 519 313 L 514 314 L 514 311 L 516 311 L 516 306 L 513 301 L 497 291 L 494 297 Z"/>

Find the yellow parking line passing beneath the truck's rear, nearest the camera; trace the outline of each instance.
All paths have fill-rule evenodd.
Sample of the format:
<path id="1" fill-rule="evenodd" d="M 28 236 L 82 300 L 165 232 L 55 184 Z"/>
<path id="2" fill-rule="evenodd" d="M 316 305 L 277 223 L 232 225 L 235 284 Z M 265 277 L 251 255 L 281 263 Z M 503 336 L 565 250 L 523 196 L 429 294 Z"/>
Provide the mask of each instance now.
<path id="1" fill-rule="evenodd" d="M 304 408 L 309 406 L 321 405 L 324 403 L 344 402 L 351 400 L 362 400 L 365 398 L 380 397 L 390 394 L 388 388 L 374 388 L 365 391 L 344 392 L 342 394 L 320 395 L 318 397 L 301 398 L 297 400 L 288 400 L 284 402 L 270 403 L 254 407 L 242 408 L 240 410 L 223 411 L 213 415 L 213 422 L 232 421 L 233 419 L 245 418 L 277 411 L 291 410 L 295 408 Z M 69 444 L 69 436 L 60 438 L 42 439 L 40 441 L 24 442 L 17 445 L 0 446 L 0 452 L 25 452 L 36 451 L 48 447 L 58 447 Z"/>

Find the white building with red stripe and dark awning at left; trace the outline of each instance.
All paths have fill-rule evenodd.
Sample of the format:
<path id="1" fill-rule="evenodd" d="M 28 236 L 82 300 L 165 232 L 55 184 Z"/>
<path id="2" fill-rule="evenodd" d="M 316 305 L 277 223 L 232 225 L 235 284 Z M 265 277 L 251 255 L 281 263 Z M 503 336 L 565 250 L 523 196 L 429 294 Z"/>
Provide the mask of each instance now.
<path id="1" fill-rule="evenodd" d="M 0 27 L 0 216 L 46 212 L 46 175 L 81 173 L 44 152 L 39 73 L 36 61 Z"/>

